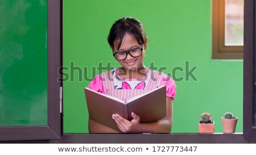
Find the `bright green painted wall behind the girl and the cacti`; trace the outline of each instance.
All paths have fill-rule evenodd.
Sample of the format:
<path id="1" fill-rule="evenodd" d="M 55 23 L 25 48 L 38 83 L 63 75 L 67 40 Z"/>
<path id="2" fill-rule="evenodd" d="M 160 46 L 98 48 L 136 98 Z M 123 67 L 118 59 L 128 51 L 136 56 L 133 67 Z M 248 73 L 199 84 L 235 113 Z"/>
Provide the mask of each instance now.
<path id="1" fill-rule="evenodd" d="M 236 132 L 242 132 L 242 60 L 212 60 L 212 22 L 210 0 L 159 1 L 64 1 L 64 132 L 88 132 L 88 112 L 83 87 L 93 78 L 93 66 L 112 57 L 107 37 L 113 22 L 123 16 L 141 20 L 148 36 L 144 64 L 154 61 L 164 73 L 180 66 L 197 66 L 193 75 L 198 81 L 177 81 L 172 133 L 196 133 L 203 112 L 210 112 L 215 132 L 222 132 L 221 116 L 233 112 L 239 120 Z M 71 65 L 71 62 L 73 65 Z M 70 66 L 77 68 L 74 72 Z M 79 77 L 79 72 L 81 76 Z M 72 74 L 73 73 L 73 74 Z M 86 76 L 84 76 L 86 74 Z M 71 80 L 71 75 L 75 75 Z M 185 77 L 185 71 L 176 72 Z M 79 80 L 79 78 L 82 78 Z"/>

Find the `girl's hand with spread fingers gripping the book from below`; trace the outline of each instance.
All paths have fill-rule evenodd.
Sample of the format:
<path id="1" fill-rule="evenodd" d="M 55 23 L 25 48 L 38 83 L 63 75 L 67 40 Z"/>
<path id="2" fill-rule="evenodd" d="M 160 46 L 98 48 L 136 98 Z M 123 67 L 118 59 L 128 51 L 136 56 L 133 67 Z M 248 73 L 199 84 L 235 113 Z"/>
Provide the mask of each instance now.
<path id="1" fill-rule="evenodd" d="M 123 132 L 123 133 L 134 133 L 138 132 L 139 125 L 139 116 L 136 115 L 134 112 L 131 112 L 131 116 L 133 119 L 131 121 L 123 118 L 122 116 L 118 114 L 113 114 L 112 118 L 115 120 L 115 123 L 117 123 L 118 128 Z"/>

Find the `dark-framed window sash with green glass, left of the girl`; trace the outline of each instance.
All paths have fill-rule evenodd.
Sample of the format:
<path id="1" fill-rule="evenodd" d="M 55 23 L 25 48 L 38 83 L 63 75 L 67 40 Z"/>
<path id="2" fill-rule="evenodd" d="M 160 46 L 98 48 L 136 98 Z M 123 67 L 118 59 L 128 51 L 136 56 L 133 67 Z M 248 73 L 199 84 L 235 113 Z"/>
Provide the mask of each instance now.
<path id="1" fill-rule="evenodd" d="M 20 5 L 20 4 L 22 4 L 22 5 Z M 42 71 L 43 69 L 41 69 L 39 67 L 40 65 L 33 64 L 34 66 L 36 66 L 35 72 L 33 74 L 31 74 L 33 79 L 31 81 L 24 80 L 24 82 L 27 82 L 27 83 L 23 83 L 24 85 L 22 85 L 22 86 L 24 86 L 24 88 L 20 87 L 19 93 L 14 94 L 15 92 L 13 92 L 13 90 L 7 91 L 6 88 L 9 88 L 9 85 L 7 85 L 5 87 L 2 85 L 0 86 L 0 90 L 1 90 L 0 103 L 1 103 L 1 112 L 2 112 L 1 116 L 0 116 L 0 118 L 1 118 L 0 141 L 3 141 L 3 140 L 11 141 L 11 140 L 60 139 L 61 134 L 62 134 L 62 130 L 61 130 L 61 128 L 62 128 L 61 127 L 62 113 L 60 113 L 60 111 L 61 111 L 61 109 L 60 109 L 60 92 L 61 92 L 60 86 L 61 86 L 61 83 L 56 80 L 59 77 L 59 74 L 56 72 L 56 70 L 58 70 L 60 68 L 61 59 L 62 59 L 61 58 L 61 41 L 62 41 L 61 40 L 62 39 L 62 36 L 61 36 L 62 35 L 61 34 L 61 28 L 62 28 L 61 27 L 61 22 L 62 22 L 61 21 L 62 20 L 61 8 L 62 8 L 62 6 L 61 5 L 62 5 L 62 1 L 55 1 L 55 0 L 40 1 L 40 2 L 39 1 L 29 1 L 29 2 L 26 1 L 26 5 L 23 5 L 23 3 L 20 3 L 18 0 L 16 0 L 16 1 L 11 1 L 11 2 L 6 1 L 3 4 L 1 3 L 1 5 L 3 5 L 3 6 L 6 5 L 5 6 L 6 9 L 3 9 L 5 11 L 1 10 L 2 11 L 1 13 L 3 13 L 3 16 L 9 17 L 10 15 L 13 15 L 16 17 L 17 10 L 13 9 L 13 6 L 15 6 L 15 8 L 18 9 L 18 11 L 23 13 L 23 14 L 20 13 L 21 15 L 18 16 L 18 19 L 21 19 L 21 20 L 5 20 L 5 19 L 3 19 L 3 20 L 5 20 L 5 23 L 6 23 L 5 26 L 9 26 L 8 24 L 10 24 L 10 25 L 13 24 L 13 21 L 15 21 L 16 23 L 21 21 L 20 23 L 23 24 L 23 22 L 24 22 L 23 16 L 26 11 L 26 14 L 25 14 L 26 22 L 29 21 L 28 22 L 29 24 L 28 24 L 28 26 L 24 25 L 24 27 L 25 27 L 25 29 L 26 29 L 26 27 L 29 27 L 27 29 L 29 29 L 31 31 L 26 31 L 27 30 L 26 29 L 26 30 L 22 31 L 22 33 L 18 33 L 18 35 L 16 35 L 16 33 L 14 33 L 14 32 L 18 32 L 18 31 L 7 31 L 10 29 L 10 27 L 7 27 L 6 30 L 3 28 L 3 32 L 7 31 L 6 33 L 9 35 L 10 35 L 10 33 L 14 33 L 16 35 L 16 37 L 18 37 L 18 39 L 17 39 L 18 41 L 20 39 L 23 39 L 25 35 L 26 35 L 26 37 L 28 36 L 27 37 L 28 39 L 26 41 L 23 41 L 26 43 L 27 46 L 24 45 L 25 48 L 23 47 L 24 49 L 22 52 L 23 53 L 22 57 L 25 57 L 26 59 L 23 58 L 23 60 L 19 60 L 19 62 L 23 61 L 23 62 L 26 62 L 27 64 L 30 64 L 31 61 L 41 62 L 41 60 L 43 59 L 43 60 L 46 60 L 46 61 L 43 61 L 43 64 L 46 64 L 47 66 L 43 66 L 43 68 L 46 68 L 45 69 L 46 72 L 43 72 Z M 27 6 L 30 6 L 30 7 L 27 7 Z M 43 16 L 44 18 L 38 18 L 39 15 L 40 15 L 40 17 Z M 36 18 L 36 19 L 32 20 L 32 18 Z M 42 20 L 44 20 L 44 19 L 47 19 L 47 20 L 42 22 Z M 16 25 L 20 26 L 19 24 L 16 24 Z M 45 33 L 46 29 L 48 32 L 47 34 Z M 16 30 L 16 27 L 15 27 L 15 30 Z M 42 31 L 43 32 L 39 33 L 38 30 L 40 30 L 40 32 L 42 32 Z M 36 35 L 32 35 L 33 37 L 29 37 L 29 36 L 31 36 L 31 34 L 34 34 L 34 33 L 36 33 Z M 38 34 L 40 34 L 40 35 L 38 35 Z M 15 36 L 15 35 L 13 35 L 13 36 Z M 11 37 L 12 40 L 9 40 L 9 37 L 3 37 L 3 40 L 6 41 L 7 46 L 10 46 L 10 45 L 13 45 L 13 43 L 15 43 L 15 41 L 16 41 L 13 38 L 15 38 L 15 37 Z M 36 40 L 36 41 L 34 41 L 34 40 Z M 18 43 L 20 43 L 20 42 L 18 42 Z M 35 42 L 39 42 L 40 43 L 39 45 L 42 45 L 43 47 L 46 47 L 46 45 L 47 45 L 47 50 L 43 51 L 43 52 L 39 52 L 39 49 L 42 49 L 42 48 L 40 48 L 38 46 L 38 44 L 36 44 L 37 47 L 35 47 L 35 48 L 32 45 L 28 45 L 30 43 L 35 43 Z M 32 47 L 32 48 L 26 48 L 26 47 Z M 15 48 L 13 48 L 13 49 L 15 49 Z M 36 52 L 35 52 L 35 49 L 36 49 Z M 12 50 L 12 51 L 9 50 L 6 53 L 10 53 L 13 51 L 15 53 L 17 50 Z M 0 57 L 1 58 L 3 57 L 3 60 L 5 60 L 5 62 L 8 62 L 7 60 L 8 60 L 8 58 L 10 58 L 10 55 L 3 55 L 4 53 L 5 52 L 2 52 L 2 53 L 0 52 L 0 54 L 1 54 Z M 18 53 L 18 52 L 16 52 L 16 53 Z M 44 56 L 38 55 L 38 53 L 43 53 Z M 40 59 L 38 58 L 39 56 L 41 56 Z M 43 58 L 43 57 L 45 57 L 45 58 Z M 29 66 L 33 66 L 33 65 L 29 65 Z M 48 69 L 47 69 L 47 67 L 48 67 Z M 23 68 L 22 68 L 22 65 L 20 65 L 20 64 L 15 65 L 15 66 L 12 65 L 11 69 L 13 69 L 13 70 L 11 70 L 10 73 L 15 72 L 15 74 L 16 74 L 16 72 L 18 72 L 18 70 L 22 70 L 21 73 L 26 73 L 26 70 L 30 70 L 30 68 L 28 68 L 28 69 L 26 68 L 26 65 L 23 65 Z M 32 69 L 34 69 L 34 68 L 32 68 Z M 36 69 L 38 69 L 39 71 Z M 0 81 L 1 81 L 1 77 L 2 77 L 2 75 L 1 75 L 2 70 L 3 69 L 1 68 L 0 69 Z M 31 70 L 30 70 L 30 72 L 31 72 Z M 40 78 L 45 77 L 46 82 L 41 82 L 40 81 L 41 79 L 39 77 L 34 76 L 34 74 L 36 74 L 38 72 L 42 73 L 42 74 L 40 74 Z M 8 75 L 9 76 L 7 78 L 13 78 L 10 76 L 12 74 L 8 74 Z M 27 79 L 30 79 L 30 78 L 27 78 Z M 9 79 L 9 81 L 10 81 L 10 79 Z M 12 83 L 13 81 L 10 81 L 9 83 Z M 16 89 L 16 87 L 19 87 L 21 82 L 15 81 L 13 83 L 15 83 L 15 89 Z M 28 85 L 29 85 L 29 87 L 28 87 Z M 27 87 L 30 89 L 27 89 Z M 42 87 L 43 87 L 43 89 L 42 89 Z M 47 90 L 47 92 L 45 94 L 34 95 L 34 96 L 30 95 L 30 94 L 34 94 L 34 92 L 41 92 L 40 90 L 44 90 L 45 87 Z M 5 88 L 5 89 L 3 89 L 3 88 Z M 27 90 L 30 90 L 30 91 L 27 91 Z M 7 94 L 6 93 L 3 94 L 3 92 L 7 92 Z M 9 93 L 9 92 L 11 92 L 11 93 Z M 24 99 L 24 96 L 26 96 L 26 95 L 23 95 L 21 92 L 25 92 L 27 94 L 28 98 Z M 12 94 L 14 94 L 14 95 L 12 95 Z M 19 95 L 19 94 L 22 94 L 22 95 Z M 44 100 L 43 97 L 46 96 L 46 94 L 47 94 L 47 97 Z M 43 96 L 43 97 L 41 97 L 41 96 Z M 20 109 L 18 106 L 15 107 L 15 106 L 13 106 L 13 105 L 15 105 L 15 104 L 13 104 L 14 97 L 18 98 L 18 99 L 21 98 L 18 100 L 19 102 L 15 103 L 16 105 L 18 105 L 18 104 L 24 105 L 24 104 L 28 104 L 28 102 L 29 102 L 33 106 L 31 106 L 30 108 L 27 108 L 29 106 L 26 106 L 23 109 Z M 7 98 L 7 99 L 3 100 L 3 98 Z M 9 100 L 11 100 L 13 107 L 9 107 L 9 105 L 3 107 L 3 105 L 10 103 Z M 40 115 L 41 114 L 40 112 L 43 111 L 42 107 L 43 108 L 46 107 L 46 109 L 47 109 L 46 115 L 43 115 L 43 116 Z M 11 108 L 13 108 L 13 109 L 11 109 Z M 31 116 L 32 112 L 30 112 L 30 110 L 33 112 L 32 116 Z M 9 114 L 10 111 L 11 112 L 18 111 L 19 115 L 16 116 L 15 119 L 12 119 L 12 118 L 8 117 L 8 116 L 11 116 Z M 3 115 L 3 112 L 5 112 L 6 114 Z M 38 112 L 40 114 L 36 115 L 36 117 L 33 117 L 36 112 Z M 17 115 L 17 114 L 15 114 L 15 115 Z M 5 116 L 5 117 L 3 118 L 3 116 Z M 18 118 L 18 119 L 16 119 L 16 118 Z M 39 122 L 40 124 L 34 123 L 35 120 L 38 120 L 38 118 L 40 118 L 39 120 L 43 120 L 43 123 L 40 123 L 40 122 Z M 41 118 L 43 118 L 43 119 L 41 119 Z M 3 122 L 3 120 L 5 120 L 5 119 L 7 119 L 6 123 Z M 12 119 L 12 120 L 9 121 L 10 119 Z"/>

